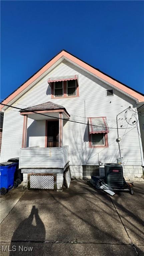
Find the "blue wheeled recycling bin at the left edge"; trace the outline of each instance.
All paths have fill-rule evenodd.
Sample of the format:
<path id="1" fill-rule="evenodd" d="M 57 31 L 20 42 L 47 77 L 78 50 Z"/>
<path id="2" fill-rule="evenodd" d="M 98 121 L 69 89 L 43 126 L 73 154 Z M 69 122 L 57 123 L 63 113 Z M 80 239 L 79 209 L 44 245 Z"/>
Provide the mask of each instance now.
<path id="1" fill-rule="evenodd" d="M 0 163 L 0 194 L 5 195 L 6 192 L 18 184 L 14 182 L 14 174 L 17 163 L 2 162 Z M 15 183 L 15 184 L 14 184 Z"/>

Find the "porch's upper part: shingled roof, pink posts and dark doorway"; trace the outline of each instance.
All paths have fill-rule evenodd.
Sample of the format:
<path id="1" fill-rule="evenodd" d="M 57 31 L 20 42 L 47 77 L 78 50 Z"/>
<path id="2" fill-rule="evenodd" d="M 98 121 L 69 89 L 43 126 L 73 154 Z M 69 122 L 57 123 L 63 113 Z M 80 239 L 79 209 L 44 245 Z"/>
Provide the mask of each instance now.
<path id="1" fill-rule="evenodd" d="M 27 120 L 45 120 L 45 148 L 63 146 L 63 120 L 69 120 L 66 109 L 50 101 L 20 111 L 24 117 L 22 132 L 22 148 L 26 148 Z M 54 123 L 55 122 L 55 123 Z"/>

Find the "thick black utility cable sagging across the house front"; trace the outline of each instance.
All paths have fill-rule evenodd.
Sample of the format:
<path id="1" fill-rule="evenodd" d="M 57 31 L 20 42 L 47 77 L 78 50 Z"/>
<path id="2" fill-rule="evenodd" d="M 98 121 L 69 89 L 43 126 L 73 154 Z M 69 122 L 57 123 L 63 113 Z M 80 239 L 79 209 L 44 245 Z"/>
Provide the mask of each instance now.
<path id="1" fill-rule="evenodd" d="M 42 115 L 42 116 L 46 116 L 46 117 L 51 117 L 51 118 L 56 118 L 56 119 L 62 119 L 62 120 L 65 120 L 65 121 L 69 121 L 69 122 L 73 122 L 73 123 L 79 123 L 79 124 L 86 124 L 88 126 L 96 126 L 96 127 L 102 127 L 102 128 L 110 128 L 110 129 L 117 129 L 115 127 L 105 127 L 105 126 L 99 126 L 99 125 L 93 125 L 93 124 L 88 124 L 88 123 L 82 123 L 82 122 L 78 122 L 78 121 L 74 121 L 74 120 L 68 120 L 66 118 L 60 118 L 60 117 L 55 117 L 55 116 L 49 116 L 49 115 L 45 115 L 45 114 L 42 114 L 42 113 L 37 113 L 36 111 L 28 111 L 27 109 L 22 109 L 22 108 L 18 108 L 18 107 L 14 107 L 14 106 L 10 106 L 10 105 L 7 105 L 7 104 L 3 104 L 1 103 L 3 106 L 7 106 L 7 107 L 11 107 L 11 108 L 14 108 L 14 109 L 19 109 L 19 110 L 22 110 L 22 111 L 25 111 L 25 112 L 32 112 L 34 114 L 39 114 L 39 115 Z M 129 127 L 130 128 L 130 127 Z M 119 129 L 125 129 L 125 128 L 119 128 Z"/>

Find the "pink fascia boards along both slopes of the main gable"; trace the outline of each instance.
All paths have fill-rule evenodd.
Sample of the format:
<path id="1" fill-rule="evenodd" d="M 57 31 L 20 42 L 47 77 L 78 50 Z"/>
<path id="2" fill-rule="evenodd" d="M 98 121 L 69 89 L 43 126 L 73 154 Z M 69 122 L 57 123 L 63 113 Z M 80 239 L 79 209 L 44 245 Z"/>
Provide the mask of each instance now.
<path id="1" fill-rule="evenodd" d="M 84 63 L 83 61 L 79 60 L 78 58 L 72 56 L 70 53 L 65 51 L 61 51 L 57 56 L 55 56 L 49 63 L 47 63 L 41 70 L 39 70 L 33 77 L 31 77 L 27 82 L 25 82 L 20 88 L 18 88 L 14 93 L 12 93 L 6 100 L 3 101 L 4 104 L 8 104 L 13 98 L 15 98 L 19 93 L 21 93 L 25 88 L 27 88 L 31 83 L 33 83 L 39 76 L 41 76 L 47 69 L 49 69 L 56 61 L 58 61 L 61 57 L 66 57 L 67 59 L 73 61 L 77 65 L 81 66 L 82 68 L 88 70 L 92 74 L 98 76 L 99 78 L 103 79 L 104 81 L 112 84 L 113 86 L 117 87 L 118 89 L 128 93 L 129 95 L 136 98 L 139 102 L 144 101 L 144 96 L 141 94 L 133 91 L 130 88 L 122 85 L 121 83 L 113 80 L 112 78 L 108 77 L 107 75 L 101 73 L 100 71 L 94 69 L 93 67 L 89 66 L 88 64 Z M 0 106 L 0 110 L 3 108 L 3 105 Z"/>

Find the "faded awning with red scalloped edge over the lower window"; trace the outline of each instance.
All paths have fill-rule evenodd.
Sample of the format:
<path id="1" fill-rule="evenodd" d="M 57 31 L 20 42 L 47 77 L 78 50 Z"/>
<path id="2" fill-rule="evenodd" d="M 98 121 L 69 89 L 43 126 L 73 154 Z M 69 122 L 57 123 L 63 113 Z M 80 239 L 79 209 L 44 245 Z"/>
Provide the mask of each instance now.
<path id="1" fill-rule="evenodd" d="M 90 117 L 89 133 L 108 133 L 109 127 L 105 117 Z"/>

